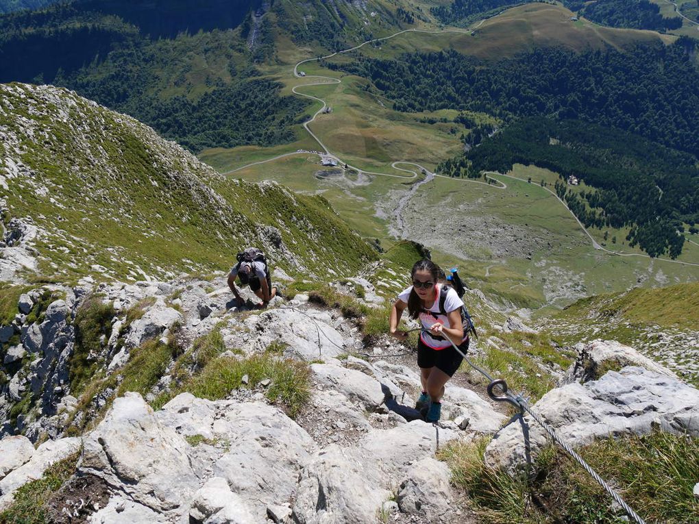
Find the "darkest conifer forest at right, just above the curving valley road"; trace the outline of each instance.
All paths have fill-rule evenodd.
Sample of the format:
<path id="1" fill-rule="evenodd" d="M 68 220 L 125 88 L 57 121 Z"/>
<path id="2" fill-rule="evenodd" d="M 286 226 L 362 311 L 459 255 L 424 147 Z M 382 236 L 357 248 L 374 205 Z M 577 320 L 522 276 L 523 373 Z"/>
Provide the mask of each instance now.
<path id="1" fill-rule="evenodd" d="M 439 170 L 479 177 L 485 170 L 505 173 L 515 163 L 559 173 L 556 192 L 586 227 L 629 226 L 626 240 L 651 256 L 679 256 L 684 237 L 677 231 L 699 221 L 695 156 L 580 120 L 522 119 Z M 598 191 L 570 191 L 570 175 Z"/>

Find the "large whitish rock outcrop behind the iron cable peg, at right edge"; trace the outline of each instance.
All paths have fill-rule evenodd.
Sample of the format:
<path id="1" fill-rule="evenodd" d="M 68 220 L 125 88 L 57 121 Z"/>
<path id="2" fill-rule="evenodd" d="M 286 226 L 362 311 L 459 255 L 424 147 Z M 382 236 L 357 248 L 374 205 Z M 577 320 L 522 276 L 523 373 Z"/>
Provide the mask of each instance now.
<path id="1" fill-rule="evenodd" d="M 643 367 L 624 367 L 596 381 L 553 389 L 533 410 L 572 446 L 609 435 L 643 435 L 654 427 L 699 435 L 699 390 Z M 485 460 L 491 467 L 512 471 L 531 460 L 545 443 L 545 431 L 524 416 L 493 438 Z"/>

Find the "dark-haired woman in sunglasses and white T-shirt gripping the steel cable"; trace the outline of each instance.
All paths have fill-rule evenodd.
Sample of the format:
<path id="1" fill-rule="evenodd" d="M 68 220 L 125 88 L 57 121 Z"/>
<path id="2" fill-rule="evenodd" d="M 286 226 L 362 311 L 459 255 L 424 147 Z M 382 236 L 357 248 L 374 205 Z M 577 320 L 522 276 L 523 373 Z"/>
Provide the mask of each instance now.
<path id="1" fill-rule="evenodd" d="M 408 337 L 405 331 L 396 330 L 406 307 L 410 318 L 419 319 L 422 325 L 417 343 L 422 394 L 415 409 L 426 411 L 427 422 L 440 419 L 445 384 L 463 361 L 449 340 L 464 354 L 468 349 L 468 334 L 461 323 L 463 302 L 454 289 L 438 283 L 440 275 L 442 271 L 431 260 L 416 262 L 410 272 L 412 286 L 398 295 L 389 320 L 391 335 L 398 340 Z"/>

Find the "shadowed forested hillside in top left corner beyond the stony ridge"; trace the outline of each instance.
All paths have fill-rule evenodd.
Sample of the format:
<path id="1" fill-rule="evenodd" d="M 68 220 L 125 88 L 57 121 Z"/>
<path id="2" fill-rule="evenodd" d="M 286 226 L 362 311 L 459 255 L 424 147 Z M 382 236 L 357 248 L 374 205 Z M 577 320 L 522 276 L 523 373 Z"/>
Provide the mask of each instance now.
<path id="1" fill-rule="evenodd" d="M 405 20 L 380 0 L 73 1 L 0 16 L 0 82 L 69 87 L 194 152 L 276 145 L 296 139 L 307 105 L 256 79 L 256 64 L 280 60 L 278 41 L 325 52 Z"/>

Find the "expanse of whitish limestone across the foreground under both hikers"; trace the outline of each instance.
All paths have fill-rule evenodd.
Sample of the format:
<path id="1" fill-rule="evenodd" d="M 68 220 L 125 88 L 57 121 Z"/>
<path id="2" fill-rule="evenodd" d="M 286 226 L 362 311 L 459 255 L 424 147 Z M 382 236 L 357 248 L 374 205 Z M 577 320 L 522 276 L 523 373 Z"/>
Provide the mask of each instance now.
<path id="1" fill-rule="evenodd" d="M 79 453 L 77 471 L 57 505 L 57 522 L 477 522 L 438 451 L 449 442 L 494 435 L 486 460 L 512 469 L 545 442 L 527 419 L 525 438 L 521 423 L 486 400 L 466 374 L 448 384 L 440 423 L 409 422 L 399 413 L 410 412 L 420 391 L 409 349 L 386 338 L 361 345 L 354 321 L 308 295 L 275 298 L 267 310 L 251 309 L 252 300 L 234 306 L 224 282 L 223 275 L 136 284 L 85 278 L 73 287 L 50 286 L 54 296 L 65 298 L 48 305 L 38 326 L 24 326 L 19 314 L 13 329 L 19 329 L 22 358 L 31 364 L 15 366 L 9 388 L 3 387 L 3 416 L 31 388 L 43 396 L 39 412 L 17 419 L 24 435 L 13 435 L 8 421 L 3 425 L 0 507 L 8 507 L 15 490 L 49 465 Z M 354 284 L 363 287 L 368 304 L 380 300 L 366 280 Z M 108 395 L 92 400 L 92 411 L 78 414 L 96 416 L 92 429 L 68 437 L 67 421 L 78 409 L 66 367 L 75 349 L 71 319 L 95 293 L 113 303 L 117 314 L 102 354 L 93 358 L 122 380 L 134 349 L 147 340 L 165 341 L 177 330 L 184 349 L 191 349 L 195 340 L 219 330 L 227 348 L 219 359 L 243 360 L 277 347 L 277 358 L 308 363 L 310 398 L 292 419 L 269 398 L 269 379 L 249 386 L 245 375 L 224 398 L 184 391 L 154 410 L 149 404 L 158 395 L 175 391 L 173 361 L 150 391 L 114 398 L 103 418 L 99 405 Z M 20 311 L 35 300 L 36 293 L 23 296 Z M 143 314 L 122 328 L 124 313 L 136 305 Z M 591 363 L 610 359 L 621 363 L 619 372 L 586 381 Z M 535 409 L 573 444 L 610 430 L 642 433 L 657 425 L 699 433 L 699 391 L 620 344 L 581 346 L 578 363 L 561 384 Z"/>

